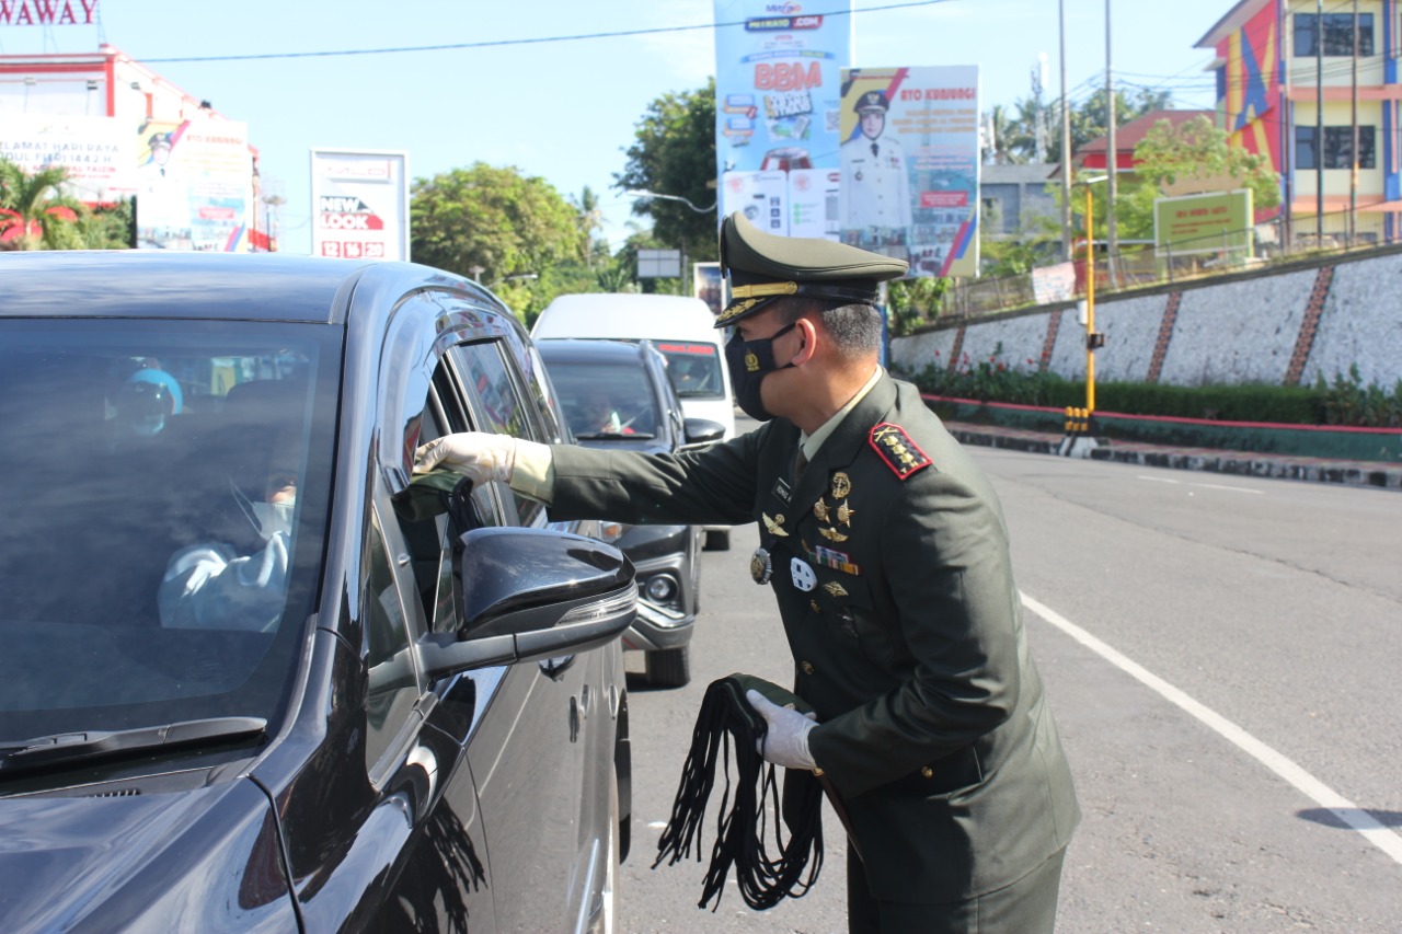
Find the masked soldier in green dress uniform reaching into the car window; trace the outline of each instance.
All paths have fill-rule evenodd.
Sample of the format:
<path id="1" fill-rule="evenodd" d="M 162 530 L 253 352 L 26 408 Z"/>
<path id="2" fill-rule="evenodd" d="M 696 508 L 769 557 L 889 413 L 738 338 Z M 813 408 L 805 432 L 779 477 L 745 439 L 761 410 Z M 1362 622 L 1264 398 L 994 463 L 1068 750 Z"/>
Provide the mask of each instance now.
<path id="1" fill-rule="evenodd" d="M 648 456 L 464 433 L 419 468 L 508 481 L 555 519 L 760 523 L 751 560 L 817 721 L 751 693 L 764 757 L 845 799 L 851 931 L 1053 930 L 1080 809 L 1032 662 L 998 499 L 879 366 L 878 283 L 899 259 L 721 230 L 726 358 L 757 431 Z M 808 778 L 812 780 L 812 778 Z M 859 855 L 858 855 L 859 851 Z"/>

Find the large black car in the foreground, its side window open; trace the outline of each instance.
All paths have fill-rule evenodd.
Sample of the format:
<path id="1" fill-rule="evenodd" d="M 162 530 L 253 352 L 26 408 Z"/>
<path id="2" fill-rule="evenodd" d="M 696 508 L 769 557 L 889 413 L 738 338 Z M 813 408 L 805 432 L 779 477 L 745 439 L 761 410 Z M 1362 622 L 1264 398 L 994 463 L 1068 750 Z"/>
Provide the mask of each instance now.
<path id="1" fill-rule="evenodd" d="M 632 567 L 412 474 L 565 438 L 510 311 L 266 255 L 0 282 L 0 930 L 611 930 Z"/>

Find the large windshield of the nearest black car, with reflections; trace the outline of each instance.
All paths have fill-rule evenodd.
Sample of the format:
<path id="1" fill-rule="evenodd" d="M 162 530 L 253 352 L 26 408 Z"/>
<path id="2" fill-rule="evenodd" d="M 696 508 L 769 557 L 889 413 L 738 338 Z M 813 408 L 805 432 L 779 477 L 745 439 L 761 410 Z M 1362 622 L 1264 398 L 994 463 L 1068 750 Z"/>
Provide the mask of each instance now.
<path id="1" fill-rule="evenodd" d="M 0 318 L 0 742 L 280 715 L 321 568 L 335 341 Z"/>

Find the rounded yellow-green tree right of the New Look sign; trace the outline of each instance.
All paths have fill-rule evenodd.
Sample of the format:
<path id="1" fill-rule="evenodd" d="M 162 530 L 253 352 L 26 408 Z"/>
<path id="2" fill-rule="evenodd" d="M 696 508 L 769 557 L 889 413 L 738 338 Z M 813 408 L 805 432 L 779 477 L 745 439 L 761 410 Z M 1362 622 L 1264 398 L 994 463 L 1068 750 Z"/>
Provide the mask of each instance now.
<path id="1" fill-rule="evenodd" d="M 580 262 L 587 244 L 579 212 L 550 182 L 485 163 L 415 178 L 409 217 L 416 261 L 491 287 L 512 285 L 513 295 L 530 289 L 508 276 Z"/>

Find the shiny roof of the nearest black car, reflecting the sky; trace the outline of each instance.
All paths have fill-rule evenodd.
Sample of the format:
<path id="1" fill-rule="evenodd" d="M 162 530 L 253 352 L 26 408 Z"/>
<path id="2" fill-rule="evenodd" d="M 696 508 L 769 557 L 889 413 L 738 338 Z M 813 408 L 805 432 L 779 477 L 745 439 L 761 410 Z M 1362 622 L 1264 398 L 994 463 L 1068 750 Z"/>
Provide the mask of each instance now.
<path id="1" fill-rule="evenodd" d="M 0 252 L 0 317 L 331 321 L 374 265 L 286 254 L 93 250 Z M 421 273 L 429 272 L 423 266 Z"/>

